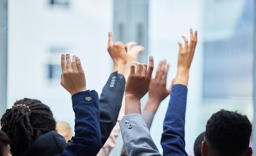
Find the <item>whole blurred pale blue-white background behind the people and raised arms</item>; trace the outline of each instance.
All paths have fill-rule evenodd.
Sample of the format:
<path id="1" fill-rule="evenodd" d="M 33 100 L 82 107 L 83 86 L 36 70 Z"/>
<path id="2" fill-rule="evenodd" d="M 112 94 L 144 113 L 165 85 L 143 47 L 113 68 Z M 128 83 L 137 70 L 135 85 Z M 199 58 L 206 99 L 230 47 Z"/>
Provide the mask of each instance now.
<path id="1" fill-rule="evenodd" d="M 139 62 L 148 63 L 153 55 L 157 67 L 167 59 L 169 86 L 177 71 L 177 42 L 184 43 L 181 36 L 189 38 L 193 28 L 198 44 L 185 125 L 186 151 L 193 156 L 195 138 L 214 112 L 238 110 L 256 122 L 254 8 L 254 0 L 1 0 L 0 115 L 27 97 L 49 105 L 56 120 L 74 127 L 71 96 L 60 85 L 61 54 L 81 58 L 87 88 L 100 94 L 113 65 L 109 31 L 115 42 L 135 41 L 146 48 Z M 146 101 L 147 95 L 142 107 Z M 150 129 L 161 153 L 168 101 L 162 101 Z M 118 156 L 121 147 L 119 136 L 110 156 Z"/>

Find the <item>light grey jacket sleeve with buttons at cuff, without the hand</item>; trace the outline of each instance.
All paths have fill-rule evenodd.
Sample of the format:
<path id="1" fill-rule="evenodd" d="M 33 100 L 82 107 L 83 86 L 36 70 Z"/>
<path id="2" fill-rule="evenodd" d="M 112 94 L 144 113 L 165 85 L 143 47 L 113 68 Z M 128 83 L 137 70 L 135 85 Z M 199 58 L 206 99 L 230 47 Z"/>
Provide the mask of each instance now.
<path id="1" fill-rule="evenodd" d="M 129 156 L 162 156 L 141 114 L 125 115 L 119 125 Z"/>

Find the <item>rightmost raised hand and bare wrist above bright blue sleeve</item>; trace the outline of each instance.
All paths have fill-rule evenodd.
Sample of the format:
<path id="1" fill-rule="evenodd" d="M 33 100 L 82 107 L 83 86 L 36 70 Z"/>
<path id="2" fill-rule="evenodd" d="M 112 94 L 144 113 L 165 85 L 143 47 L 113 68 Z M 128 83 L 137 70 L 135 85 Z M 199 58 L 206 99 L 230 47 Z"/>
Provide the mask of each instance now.
<path id="1" fill-rule="evenodd" d="M 188 44 L 188 40 L 185 36 L 182 36 L 185 41 L 184 48 L 182 44 L 179 42 L 180 50 L 179 50 L 179 58 L 178 58 L 178 70 L 176 79 L 174 84 L 183 84 L 185 86 L 188 85 L 189 79 L 189 68 L 191 66 L 191 62 L 195 52 L 195 46 L 197 43 L 197 31 L 195 31 L 195 35 L 193 35 L 193 30 L 190 29 L 190 43 Z M 178 78 L 178 79 L 177 79 Z"/>

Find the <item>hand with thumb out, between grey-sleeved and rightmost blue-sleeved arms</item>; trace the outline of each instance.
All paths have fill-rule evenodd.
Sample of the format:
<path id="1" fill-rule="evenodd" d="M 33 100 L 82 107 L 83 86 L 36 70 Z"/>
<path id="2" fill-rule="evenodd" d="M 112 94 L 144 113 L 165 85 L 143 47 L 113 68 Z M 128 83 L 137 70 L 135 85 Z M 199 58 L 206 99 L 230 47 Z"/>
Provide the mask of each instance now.
<path id="1" fill-rule="evenodd" d="M 166 60 L 160 61 L 155 74 L 155 79 L 151 79 L 150 90 L 148 92 L 148 100 L 154 101 L 154 103 L 158 103 L 158 105 L 170 94 L 171 87 L 173 86 L 172 81 L 171 86 L 166 89 L 166 78 L 170 64 L 167 64 L 167 66 L 165 65 Z"/>

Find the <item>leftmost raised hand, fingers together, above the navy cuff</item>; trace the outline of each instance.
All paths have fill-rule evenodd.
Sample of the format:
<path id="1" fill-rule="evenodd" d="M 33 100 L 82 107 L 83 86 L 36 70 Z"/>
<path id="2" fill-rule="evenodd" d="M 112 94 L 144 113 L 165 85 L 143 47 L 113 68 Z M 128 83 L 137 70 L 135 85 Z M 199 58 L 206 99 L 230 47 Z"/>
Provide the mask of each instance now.
<path id="1" fill-rule="evenodd" d="M 71 96 L 86 90 L 86 80 L 79 57 L 73 56 L 72 62 L 70 55 L 61 55 L 61 86 L 70 92 Z"/>

